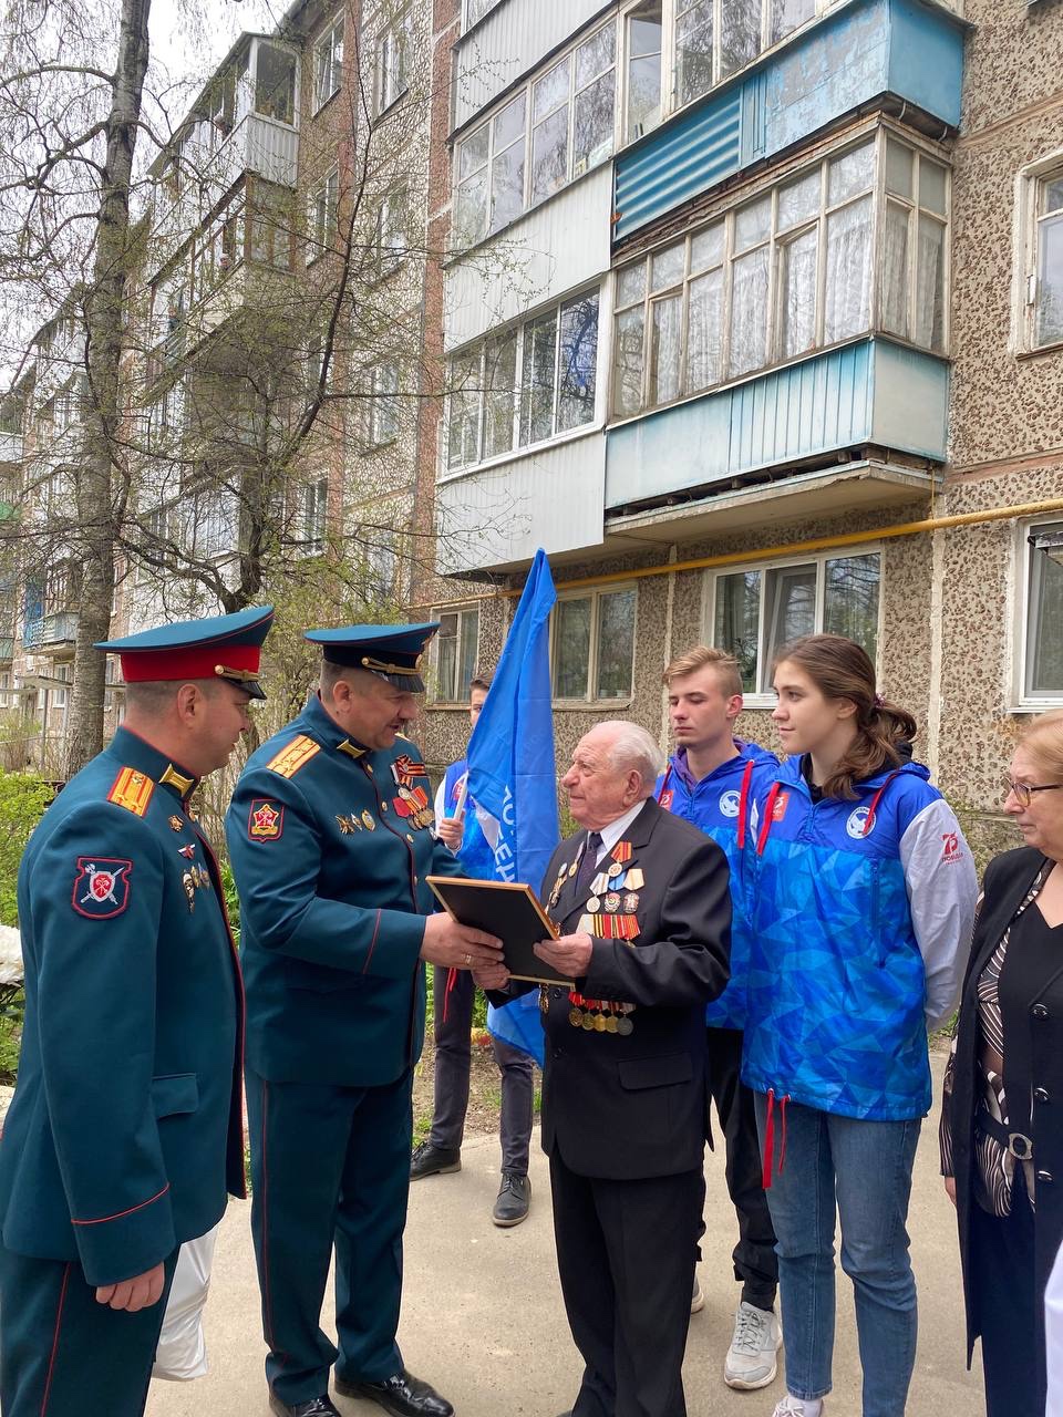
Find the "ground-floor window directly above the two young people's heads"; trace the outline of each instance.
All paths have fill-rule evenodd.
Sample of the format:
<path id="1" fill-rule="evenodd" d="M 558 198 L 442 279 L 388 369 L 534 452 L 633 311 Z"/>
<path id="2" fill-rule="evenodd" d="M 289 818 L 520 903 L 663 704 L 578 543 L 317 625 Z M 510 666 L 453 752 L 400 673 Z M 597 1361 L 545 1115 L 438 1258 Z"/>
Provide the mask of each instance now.
<path id="1" fill-rule="evenodd" d="M 771 666 L 798 635 L 845 635 L 874 662 L 882 557 L 816 557 L 724 571 L 709 581 L 710 643 L 734 655 L 747 694 L 771 693 Z"/>

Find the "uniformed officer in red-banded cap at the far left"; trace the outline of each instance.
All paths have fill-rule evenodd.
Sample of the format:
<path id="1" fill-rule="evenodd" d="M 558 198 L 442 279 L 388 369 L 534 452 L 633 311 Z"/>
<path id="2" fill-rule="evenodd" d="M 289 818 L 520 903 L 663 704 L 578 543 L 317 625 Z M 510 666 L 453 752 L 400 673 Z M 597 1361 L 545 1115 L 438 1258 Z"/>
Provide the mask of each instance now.
<path id="1" fill-rule="evenodd" d="M 98 645 L 126 720 L 18 871 L 26 1026 L 0 1139 L 4 1417 L 143 1411 L 177 1250 L 244 1195 L 242 992 L 189 812 L 262 699 L 272 609 Z"/>

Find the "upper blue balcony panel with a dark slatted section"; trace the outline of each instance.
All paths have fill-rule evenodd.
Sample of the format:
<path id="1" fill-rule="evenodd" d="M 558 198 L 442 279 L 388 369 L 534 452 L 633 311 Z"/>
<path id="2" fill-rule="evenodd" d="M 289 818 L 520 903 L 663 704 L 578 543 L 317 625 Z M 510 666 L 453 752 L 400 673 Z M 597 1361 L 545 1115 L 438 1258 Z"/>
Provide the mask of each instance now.
<path id="1" fill-rule="evenodd" d="M 614 239 L 883 94 L 960 122 L 965 26 L 924 0 L 848 0 L 615 162 Z"/>

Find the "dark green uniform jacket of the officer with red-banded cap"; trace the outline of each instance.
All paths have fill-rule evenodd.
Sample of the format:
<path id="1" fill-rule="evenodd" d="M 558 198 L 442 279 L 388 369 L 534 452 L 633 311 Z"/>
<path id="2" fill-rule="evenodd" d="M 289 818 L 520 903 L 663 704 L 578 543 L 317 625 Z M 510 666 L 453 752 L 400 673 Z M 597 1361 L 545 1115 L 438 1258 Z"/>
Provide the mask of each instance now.
<path id="1" fill-rule="evenodd" d="M 79 1261 L 89 1285 L 143 1274 L 221 1219 L 227 1189 L 244 1195 L 242 989 L 193 786 L 119 728 L 18 871 L 26 1026 L 0 1234 Z"/>

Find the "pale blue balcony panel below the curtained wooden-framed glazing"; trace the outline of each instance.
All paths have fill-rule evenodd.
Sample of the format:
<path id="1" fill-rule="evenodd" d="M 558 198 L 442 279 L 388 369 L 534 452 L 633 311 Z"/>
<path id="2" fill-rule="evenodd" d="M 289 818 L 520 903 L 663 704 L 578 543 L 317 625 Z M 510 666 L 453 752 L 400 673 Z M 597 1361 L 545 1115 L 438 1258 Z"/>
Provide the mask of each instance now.
<path id="1" fill-rule="evenodd" d="M 948 366 L 860 340 L 611 428 L 605 509 L 873 445 L 945 458 Z"/>

